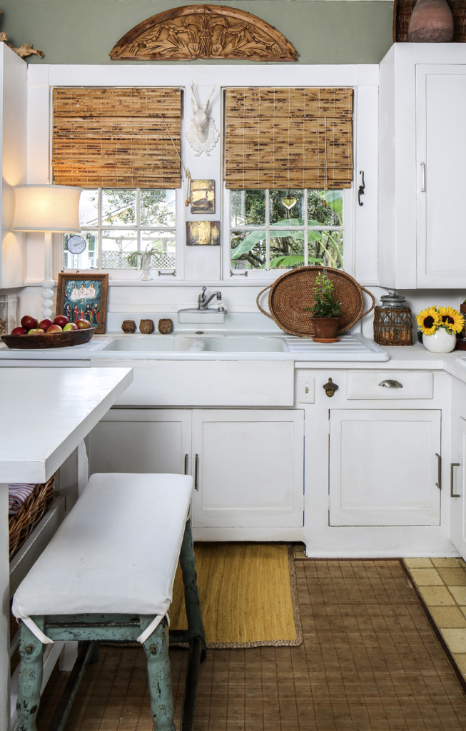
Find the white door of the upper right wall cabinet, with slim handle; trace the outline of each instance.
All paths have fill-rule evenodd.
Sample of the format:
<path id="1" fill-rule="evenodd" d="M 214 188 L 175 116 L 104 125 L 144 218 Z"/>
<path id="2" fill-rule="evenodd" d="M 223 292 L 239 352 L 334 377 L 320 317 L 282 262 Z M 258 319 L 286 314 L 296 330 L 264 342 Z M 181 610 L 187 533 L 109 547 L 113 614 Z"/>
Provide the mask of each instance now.
<path id="1" fill-rule="evenodd" d="M 466 67 L 416 66 L 418 287 L 464 287 Z"/>

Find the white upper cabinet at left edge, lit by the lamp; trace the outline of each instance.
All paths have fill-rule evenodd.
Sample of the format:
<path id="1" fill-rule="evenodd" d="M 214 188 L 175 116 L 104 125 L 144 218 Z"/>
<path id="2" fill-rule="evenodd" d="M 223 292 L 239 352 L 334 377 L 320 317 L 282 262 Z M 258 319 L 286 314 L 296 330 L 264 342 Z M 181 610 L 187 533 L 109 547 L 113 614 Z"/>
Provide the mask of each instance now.
<path id="1" fill-rule="evenodd" d="M 23 287 L 25 234 L 12 233 L 13 186 L 26 181 L 28 66 L 6 43 L 0 43 L 1 246 L 0 289 Z"/>

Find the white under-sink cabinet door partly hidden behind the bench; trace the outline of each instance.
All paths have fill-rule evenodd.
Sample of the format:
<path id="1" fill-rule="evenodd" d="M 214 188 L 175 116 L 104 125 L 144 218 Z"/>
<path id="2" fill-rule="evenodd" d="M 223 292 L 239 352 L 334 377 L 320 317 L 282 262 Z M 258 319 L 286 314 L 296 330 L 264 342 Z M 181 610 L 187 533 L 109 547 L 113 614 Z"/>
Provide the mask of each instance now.
<path id="1" fill-rule="evenodd" d="M 191 472 L 191 412 L 110 409 L 89 435 L 89 473 Z"/>

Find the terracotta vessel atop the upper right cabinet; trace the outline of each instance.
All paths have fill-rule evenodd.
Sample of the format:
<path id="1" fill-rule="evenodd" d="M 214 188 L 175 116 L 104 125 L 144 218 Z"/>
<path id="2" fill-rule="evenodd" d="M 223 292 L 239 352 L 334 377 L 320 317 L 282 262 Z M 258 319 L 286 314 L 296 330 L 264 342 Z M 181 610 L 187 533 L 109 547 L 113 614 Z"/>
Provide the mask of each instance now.
<path id="1" fill-rule="evenodd" d="M 453 34 L 453 15 L 446 0 L 417 0 L 408 25 L 409 42 L 449 43 Z"/>

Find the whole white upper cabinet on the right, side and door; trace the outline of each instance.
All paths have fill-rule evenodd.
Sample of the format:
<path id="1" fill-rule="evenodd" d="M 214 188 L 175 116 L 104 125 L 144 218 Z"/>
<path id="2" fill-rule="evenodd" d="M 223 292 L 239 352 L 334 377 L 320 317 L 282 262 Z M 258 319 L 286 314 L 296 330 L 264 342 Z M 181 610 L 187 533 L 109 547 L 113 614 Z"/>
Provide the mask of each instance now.
<path id="1" fill-rule="evenodd" d="M 379 282 L 462 288 L 466 48 L 396 43 L 379 91 Z"/>

